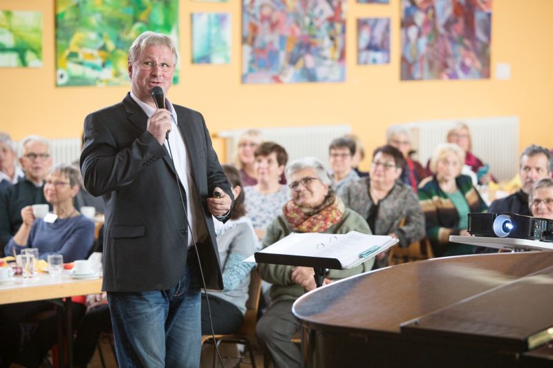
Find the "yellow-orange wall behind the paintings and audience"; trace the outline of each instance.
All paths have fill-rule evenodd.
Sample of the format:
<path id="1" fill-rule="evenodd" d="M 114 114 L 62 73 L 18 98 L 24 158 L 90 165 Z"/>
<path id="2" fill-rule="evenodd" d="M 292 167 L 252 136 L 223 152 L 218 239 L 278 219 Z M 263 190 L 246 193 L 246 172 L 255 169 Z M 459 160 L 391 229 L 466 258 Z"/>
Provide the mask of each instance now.
<path id="1" fill-rule="evenodd" d="M 53 0 L 1 0 L 0 10 L 40 10 L 44 66 L 0 68 L 0 130 L 14 139 L 35 133 L 78 137 L 87 113 L 120 101 L 128 87 L 55 87 Z M 192 65 L 190 14 L 232 13 L 232 63 Z M 169 97 L 200 110 L 212 134 L 245 127 L 351 124 L 368 151 L 384 142 L 389 124 L 429 119 L 516 115 L 520 146 L 553 146 L 553 32 L 551 0 L 494 0 L 491 65 L 509 63 L 508 81 L 400 81 L 400 0 L 388 6 L 348 0 L 346 82 L 340 84 L 241 84 L 241 1 L 180 0 L 181 79 Z M 391 17 L 391 64 L 357 66 L 355 21 Z M 543 132 L 547 132 L 544 134 Z M 222 154 L 221 142 L 216 147 Z M 225 157 L 221 157 L 224 161 Z M 366 166 L 364 162 L 364 166 Z"/>

